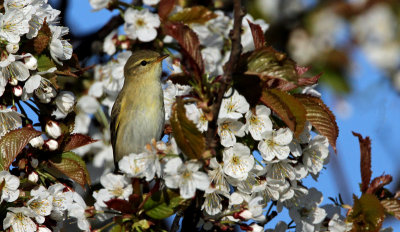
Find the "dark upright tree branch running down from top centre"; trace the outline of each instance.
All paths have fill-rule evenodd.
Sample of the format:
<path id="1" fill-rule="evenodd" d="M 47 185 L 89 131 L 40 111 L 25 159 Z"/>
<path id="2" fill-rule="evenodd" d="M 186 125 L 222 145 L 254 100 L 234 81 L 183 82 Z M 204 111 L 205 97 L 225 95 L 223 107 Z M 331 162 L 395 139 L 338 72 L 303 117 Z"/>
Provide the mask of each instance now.
<path id="1" fill-rule="evenodd" d="M 217 120 L 218 120 L 219 110 L 221 108 L 222 99 L 224 97 L 224 93 L 232 83 L 232 76 L 236 71 L 236 67 L 238 67 L 240 54 L 242 53 L 242 45 L 240 37 L 241 37 L 242 19 L 244 15 L 245 11 L 242 8 L 241 1 L 235 0 L 233 3 L 233 20 L 234 20 L 233 29 L 230 32 L 232 41 L 231 54 L 229 57 L 229 61 L 225 66 L 225 73 L 220 80 L 221 86 L 218 90 L 217 96 L 215 98 L 212 107 L 213 119 L 208 123 L 208 131 L 206 135 L 207 148 L 212 152 L 214 152 L 214 148 L 217 145 L 214 138 L 218 128 Z"/>

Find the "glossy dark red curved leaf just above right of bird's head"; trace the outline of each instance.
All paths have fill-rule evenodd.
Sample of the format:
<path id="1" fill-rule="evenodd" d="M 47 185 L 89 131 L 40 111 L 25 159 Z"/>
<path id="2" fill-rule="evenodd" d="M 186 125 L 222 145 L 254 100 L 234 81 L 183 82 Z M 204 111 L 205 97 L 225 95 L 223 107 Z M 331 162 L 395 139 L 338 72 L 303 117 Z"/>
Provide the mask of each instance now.
<path id="1" fill-rule="evenodd" d="M 201 56 L 199 38 L 196 33 L 190 27 L 180 22 L 165 23 L 164 33 L 178 41 L 189 66 L 193 69 L 196 76 L 200 78 L 204 71 L 204 63 Z M 182 62 L 185 61 L 186 59 L 182 59 Z"/>

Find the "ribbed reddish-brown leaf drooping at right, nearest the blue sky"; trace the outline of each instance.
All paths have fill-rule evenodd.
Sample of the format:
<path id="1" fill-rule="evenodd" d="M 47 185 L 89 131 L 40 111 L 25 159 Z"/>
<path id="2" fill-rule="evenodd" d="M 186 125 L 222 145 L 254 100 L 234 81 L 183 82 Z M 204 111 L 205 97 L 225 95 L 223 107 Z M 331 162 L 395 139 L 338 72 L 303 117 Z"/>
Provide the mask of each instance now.
<path id="1" fill-rule="evenodd" d="M 335 115 L 318 97 L 304 94 L 296 94 L 295 97 L 304 105 L 307 112 L 307 121 L 321 135 L 328 138 L 329 144 L 336 152 L 336 140 L 339 136 L 339 128 L 336 124 Z"/>

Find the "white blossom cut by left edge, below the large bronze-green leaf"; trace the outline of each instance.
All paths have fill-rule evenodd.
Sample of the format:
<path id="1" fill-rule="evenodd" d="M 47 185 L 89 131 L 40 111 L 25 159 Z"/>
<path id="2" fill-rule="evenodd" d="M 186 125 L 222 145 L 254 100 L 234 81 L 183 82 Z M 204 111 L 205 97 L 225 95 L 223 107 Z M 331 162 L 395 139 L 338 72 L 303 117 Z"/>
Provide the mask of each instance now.
<path id="1" fill-rule="evenodd" d="M 19 196 L 19 178 L 11 175 L 8 171 L 0 172 L 0 184 L 4 183 L 1 190 L 0 203 L 4 201 L 13 202 Z"/>

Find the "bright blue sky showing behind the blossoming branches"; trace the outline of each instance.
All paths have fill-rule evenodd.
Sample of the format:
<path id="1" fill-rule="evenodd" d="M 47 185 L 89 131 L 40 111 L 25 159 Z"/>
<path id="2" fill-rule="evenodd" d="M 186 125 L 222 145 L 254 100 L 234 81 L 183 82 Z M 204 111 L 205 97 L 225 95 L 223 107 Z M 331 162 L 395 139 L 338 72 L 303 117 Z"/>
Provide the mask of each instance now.
<path id="1" fill-rule="evenodd" d="M 88 0 L 70 0 L 70 7 L 68 26 L 75 33 L 98 29 L 117 13 L 107 10 L 93 12 Z M 337 117 L 340 130 L 338 153 L 332 153 L 330 163 L 322 171 L 318 182 L 311 178 L 305 181 L 306 186 L 316 187 L 323 192 L 324 203 L 329 203 L 327 197 L 336 197 L 338 193 L 348 204 L 352 204 L 353 193 L 360 196 L 359 144 L 352 131 L 369 136 L 372 140 L 373 177 L 383 173 L 396 177 L 399 170 L 400 123 L 397 120 L 400 118 L 400 96 L 391 88 L 384 74 L 368 63 L 362 51 L 353 51 L 353 60 L 355 65 L 351 84 L 354 91 L 344 98 L 351 105 L 352 114 L 347 118 Z M 322 87 L 321 92 L 325 103 L 337 113 L 338 100 L 331 90 Z M 393 183 L 389 185 L 389 189 L 393 190 L 393 187 Z M 398 221 L 391 221 L 390 225 L 395 230 L 400 228 Z"/>

